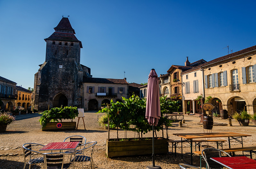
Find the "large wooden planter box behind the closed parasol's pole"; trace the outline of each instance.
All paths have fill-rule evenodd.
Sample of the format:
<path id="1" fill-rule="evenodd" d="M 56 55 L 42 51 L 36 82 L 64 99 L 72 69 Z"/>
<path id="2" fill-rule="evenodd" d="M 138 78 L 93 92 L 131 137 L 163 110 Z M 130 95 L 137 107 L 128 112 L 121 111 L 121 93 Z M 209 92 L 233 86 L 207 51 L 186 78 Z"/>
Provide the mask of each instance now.
<path id="1" fill-rule="evenodd" d="M 167 139 L 156 139 L 155 154 L 168 153 Z M 152 140 L 131 141 L 106 141 L 106 153 L 108 157 L 132 156 L 152 154 Z"/>

